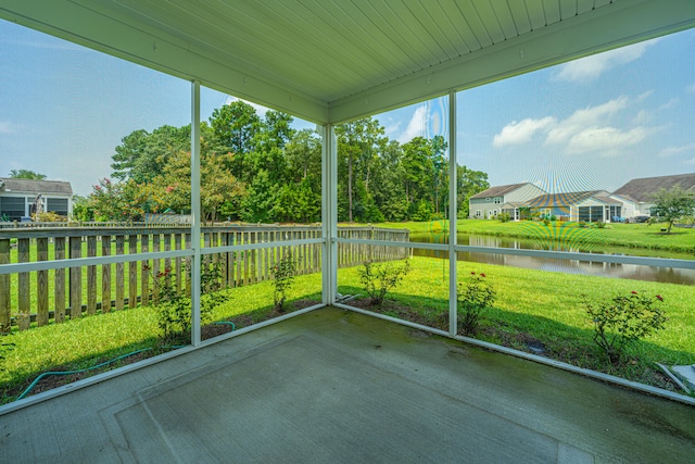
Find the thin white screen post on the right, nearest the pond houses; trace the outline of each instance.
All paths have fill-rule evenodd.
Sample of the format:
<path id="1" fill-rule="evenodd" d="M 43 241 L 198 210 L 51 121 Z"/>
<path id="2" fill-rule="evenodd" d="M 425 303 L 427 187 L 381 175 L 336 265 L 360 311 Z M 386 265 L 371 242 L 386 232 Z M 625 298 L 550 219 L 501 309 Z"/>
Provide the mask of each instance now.
<path id="1" fill-rule="evenodd" d="M 456 163 L 456 92 L 448 92 L 448 334 L 456 335 L 457 314 L 457 256 L 456 256 L 456 220 L 457 205 L 457 163 Z"/>

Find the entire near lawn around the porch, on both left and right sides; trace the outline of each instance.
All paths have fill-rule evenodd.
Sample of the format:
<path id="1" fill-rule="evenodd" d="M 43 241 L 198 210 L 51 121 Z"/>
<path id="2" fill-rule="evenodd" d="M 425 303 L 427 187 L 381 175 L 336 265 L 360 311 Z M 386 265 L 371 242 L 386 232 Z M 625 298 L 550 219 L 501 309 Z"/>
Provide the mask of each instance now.
<path id="1" fill-rule="evenodd" d="M 412 264 L 405 281 L 387 294 L 381 312 L 445 329 L 447 261 L 414 258 Z M 654 363 L 695 363 L 695 312 L 692 311 L 695 287 L 468 262 L 457 265 L 462 278 L 471 271 L 485 273 L 497 291 L 494 308 L 483 314 L 480 339 L 526 351 L 533 342 L 543 347 L 543 354 L 548 358 L 670 389 L 673 386 L 658 374 Z M 291 300 L 318 302 L 320 289 L 320 274 L 298 276 L 290 297 Z M 592 324 L 581 305 L 581 294 L 607 300 L 632 290 L 661 294 L 669 321 L 665 330 L 632 347 L 624 365 L 612 365 L 593 343 Z M 357 296 L 354 304 L 364 305 L 365 300 L 359 300 L 364 290 L 357 267 L 339 271 L 338 291 Z M 213 321 L 249 324 L 274 314 L 270 281 L 225 292 L 228 300 L 215 309 Z M 3 402 L 16 398 L 42 372 L 84 368 L 141 348 L 156 347 L 157 335 L 152 306 L 15 331 L 2 339 L 14 343 L 10 350 L 0 353 L 5 356 L 4 371 L 0 372 Z"/>

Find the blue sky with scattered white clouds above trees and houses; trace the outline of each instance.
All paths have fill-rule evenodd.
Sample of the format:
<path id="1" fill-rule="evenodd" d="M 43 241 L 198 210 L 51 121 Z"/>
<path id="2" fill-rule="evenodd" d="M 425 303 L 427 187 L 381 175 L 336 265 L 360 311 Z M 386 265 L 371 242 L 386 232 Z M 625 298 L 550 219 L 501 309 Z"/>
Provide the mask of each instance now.
<path id="1" fill-rule="evenodd" d="M 456 158 L 492 185 L 547 191 L 694 173 L 693 50 L 687 30 L 463 91 Z M 31 170 L 80 195 L 110 176 L 124 136 L 190 121 L 188 81 L 3 21 L 0 84 L 0 176 Z M 201 98 L 202 118 L 233 99 Z M 438 99 L 375 117 L 404 142 L 446 135 L 446 114 Z"/>

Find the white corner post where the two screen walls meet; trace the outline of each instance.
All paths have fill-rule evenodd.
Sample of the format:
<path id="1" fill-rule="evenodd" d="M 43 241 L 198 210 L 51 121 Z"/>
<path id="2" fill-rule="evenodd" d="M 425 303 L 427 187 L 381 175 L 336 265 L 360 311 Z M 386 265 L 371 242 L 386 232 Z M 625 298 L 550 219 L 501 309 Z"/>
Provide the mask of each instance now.
<path id="1" fill-rule="evenodd" d="M 321 138 L 323 302 L 333 304 L 338 292 L 338 147 L 332 124 L 323 127 Z"/>

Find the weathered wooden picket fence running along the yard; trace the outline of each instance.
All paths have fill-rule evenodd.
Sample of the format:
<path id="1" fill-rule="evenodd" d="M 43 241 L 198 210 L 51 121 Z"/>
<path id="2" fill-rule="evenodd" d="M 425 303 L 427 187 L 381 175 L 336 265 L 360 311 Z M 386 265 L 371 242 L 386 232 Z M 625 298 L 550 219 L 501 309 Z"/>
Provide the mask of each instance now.
<path id="1" fill-rule="evenodd" d="M 0 333 L 12 325 L 21 330 L 31 323 L 43 326 L 80 317 L 156 303 L 162 277 L 178 292 L 190 292 L 190 256 L 138 260 L 125 263 L 71 266 L 79 258 L 137 255 L 191 248 L 188 227 L 56 227 L 0 229 L 0 265 L 65 261 L 64 267 L 0 274 Z M 218 266 L 224 287 L 239 287 L 273 278 L 273 266 L 291 255 L 298 275 L 321 269 L 321 243 L 282 244 L 291 240 L 319 239 L 317 226 L 217 225 L 202 227 L 204 248 L 232 244 L 277 243 L 270 248 L 204 254 L 203 266 Z M 341 238 L 408 241 L 407 230 L 341 227 Z M 397 243 L 396 243 L 397 244 Z M 339 267 L 365 261 L 390 261 L 409 255 L 405 247 L 340 243 Z M 73 309 L 78 309 L 74 311 Z"/>

